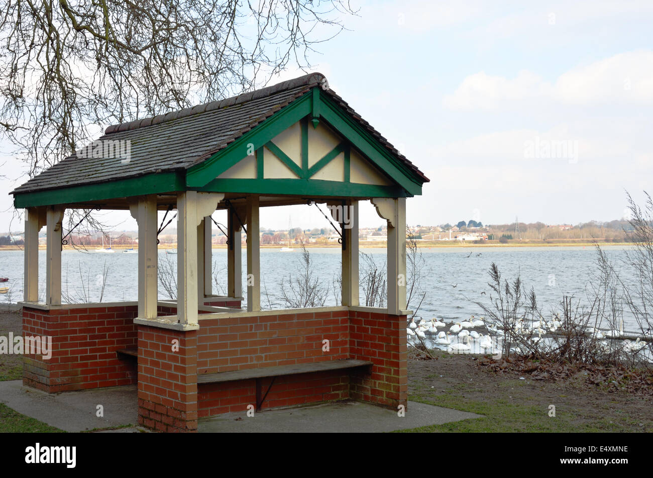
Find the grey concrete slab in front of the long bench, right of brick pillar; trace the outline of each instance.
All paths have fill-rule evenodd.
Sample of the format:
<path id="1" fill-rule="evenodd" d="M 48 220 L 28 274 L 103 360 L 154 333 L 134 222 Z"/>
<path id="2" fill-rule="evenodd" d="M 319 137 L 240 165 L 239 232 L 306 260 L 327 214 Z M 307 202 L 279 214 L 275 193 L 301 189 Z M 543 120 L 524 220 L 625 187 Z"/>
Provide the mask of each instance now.
<path id="1" fill-rule="evenodd" d="M 246 411 L 200 419 L 198 432 L 392 432 L 436 425 L 481 415 L 408 402 L 405 417 L 397 412 L 362 402 L 332 402 L 315 406 L 276 409 L 247 417 Z"/>

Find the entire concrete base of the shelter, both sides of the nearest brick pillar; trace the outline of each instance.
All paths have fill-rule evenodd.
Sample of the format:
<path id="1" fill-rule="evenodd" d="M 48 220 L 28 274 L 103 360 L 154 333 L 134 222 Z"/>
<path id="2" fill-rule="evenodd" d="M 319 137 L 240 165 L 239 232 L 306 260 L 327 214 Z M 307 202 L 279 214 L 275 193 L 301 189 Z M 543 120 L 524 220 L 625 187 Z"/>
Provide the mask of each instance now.
<path id="1" fill-rule="evenodd" d="M 138 418 L 136 386 L 47 394 L 24 387 L 22 381 L 0 382 L 0 402 L 11 409 L 67 432 L 135 425 Z M 104 417 L 97 417 L 97 406 Z M 200 419 L 199 432 L 392 432 L 419 426 L 480 417 L 475 413 L 408 402 L 405 417 L 394 410 L 364 402 L 341 401 L 275 409 L 247 417 L 246 411 Z M 138 432 L 132 426 L 107 432 Z"/>

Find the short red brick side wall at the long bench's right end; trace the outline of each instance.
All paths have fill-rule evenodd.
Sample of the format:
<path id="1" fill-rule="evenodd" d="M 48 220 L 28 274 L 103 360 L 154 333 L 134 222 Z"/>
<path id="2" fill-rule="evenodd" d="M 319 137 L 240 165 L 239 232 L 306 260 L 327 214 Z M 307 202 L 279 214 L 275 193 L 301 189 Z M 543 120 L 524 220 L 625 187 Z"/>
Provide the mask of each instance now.
<path id="1" fill-rule="evenodd" d="M 349 311 L 349 358 L 374 362 L 372 374 L 352 375 L 355 400 L 395 408 L 407 405 L 406 315 Z"/>

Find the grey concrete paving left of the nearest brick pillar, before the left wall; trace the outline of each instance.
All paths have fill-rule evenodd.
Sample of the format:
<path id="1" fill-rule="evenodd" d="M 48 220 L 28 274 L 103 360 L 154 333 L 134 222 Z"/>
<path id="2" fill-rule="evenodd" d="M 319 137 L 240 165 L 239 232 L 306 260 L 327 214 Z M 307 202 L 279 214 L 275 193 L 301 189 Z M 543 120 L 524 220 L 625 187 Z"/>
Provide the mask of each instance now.
<path id="1" fill-rule="evenodd" d="M 67 432 L 128 424 L 135 426 L 138 422 L 137 394 L 136 385 L 48 394 L 23 387 L 22 380 L 0 381 L 0 402 L 18 413 Z M 104 407 L 104 417 L 96 416 L 98 405 Z M 133 428 L 131 431 L 139 430 Z"/>

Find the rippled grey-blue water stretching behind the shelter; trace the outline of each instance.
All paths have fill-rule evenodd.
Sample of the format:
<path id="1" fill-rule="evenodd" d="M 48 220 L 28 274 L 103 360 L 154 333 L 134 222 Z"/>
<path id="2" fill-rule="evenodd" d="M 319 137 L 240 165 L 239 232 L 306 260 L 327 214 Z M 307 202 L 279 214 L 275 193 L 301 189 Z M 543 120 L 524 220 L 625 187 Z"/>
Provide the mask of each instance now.
<path id="1" fill-rule="evenodd" d="M 319 274 L 323 285 L 331 290 L 326 305 L 336 304 L 333 285 L 340 270 L 340 249 L 311 248 L 311 259 L 315 274 Z M 609 257 L 620 266 L 628 247 L 605 247 Z M 385 249 L 362 249 L 372 255 L 379 268 L 385 264 Z M 422 288 L 427 292 L 419 310 L 418 317 L 442 317 L 445 321 L 458 321 L 478 314 L 479 308 L 472 301 L 489 300 L 488 268 L 490 263 L 498 264 L 504 278 L 512 279 L 521 275 L 527 289 L 534 287 L 539 302 L 545 310 L 555 306 L 563 295 L 584 298 L 588 281 L 596 268 L 596 253 L 592 246 L 587 247 L 433 247 L 421 248 L 424 257 L 422 269 Z M 470 255 L 471 252 L 471 255 Z M 214 249 L 214 272 L 219 285 L 225 288 L 227 283 L 227 251 Z M 159 251 L 159 261 L 170 261 L 176 267 L 176 256 Z M 246 253 L 243 251 L 242 264 L 245 268 Z M 80 251 L 63 251 L 62 254 L 62 289 L 64 293 L 82 301 L 82 283 L 88 287 L 91 301 L 99 300 L 101 275 L 106 264 L 108 269 L 104 302 L 136 300 L 137 298 L 137 263 L 138 254 L 125 254 L 116 251 L 113 254 L 84 253 Z M 300 265 L 300 249 L 294 252 L 279 252 L 278 249 L 261 250 L 261 272 L 264 287 L 261 290 L 261 303 L 268 308 L 267 296 L 274 308 L 283 308 L 281 280 L 288 282 L 289 276 L 295 274 Z M 625 279 L 628 282 L 627 270 Z M 23 253 L 22 251 L 0 251 L 0 277 L 9 277 L 8 283 L 0 287 L 12 287 L 12 302 L 22 300 L 23 296 Z M 243 271 L 243 277 L 246 276 Z M 44 296 L 45 251 L 39 251 L 39 291 Z M 456 287 L 453 287 L 456 286 Z M 266 296 L 265 289 L 268 295 Z M 487 295 L 481 295 L 485 291 Z M 214 293 L 220 291 L 214 286 Z M 339 294 L 339 293 L 338 293 Z M 167 298 L 162 287 L 159 296 Z M 0 300 L 7 301 L 7 295 L 0 295 Z M 361 292 L 361 302 L 363 295 Z M 415 301 L 409 307 L 415 308 Z M 636 330 L 634 319 L 628 314 L 624 317 L 624 328 Z"/>

